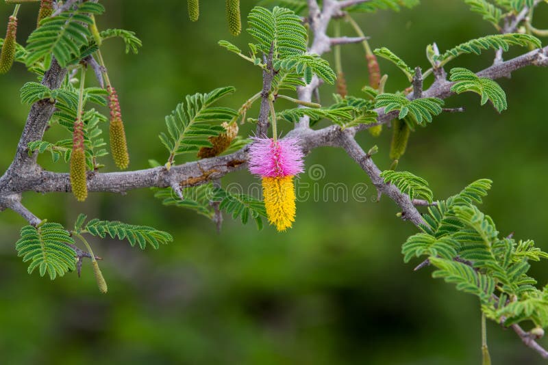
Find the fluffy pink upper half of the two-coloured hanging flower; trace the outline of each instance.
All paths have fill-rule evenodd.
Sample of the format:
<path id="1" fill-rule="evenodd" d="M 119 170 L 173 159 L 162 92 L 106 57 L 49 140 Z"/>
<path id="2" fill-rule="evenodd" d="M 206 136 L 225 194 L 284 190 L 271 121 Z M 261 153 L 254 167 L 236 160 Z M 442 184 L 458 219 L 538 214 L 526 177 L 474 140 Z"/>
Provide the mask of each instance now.
<path id="1" fill-rule="evenodd" d="M 253 138 L 249 147 L 249 172 L 262 177 L 293 176 L 303 172 L 303 151 L 297 138 Z"/>

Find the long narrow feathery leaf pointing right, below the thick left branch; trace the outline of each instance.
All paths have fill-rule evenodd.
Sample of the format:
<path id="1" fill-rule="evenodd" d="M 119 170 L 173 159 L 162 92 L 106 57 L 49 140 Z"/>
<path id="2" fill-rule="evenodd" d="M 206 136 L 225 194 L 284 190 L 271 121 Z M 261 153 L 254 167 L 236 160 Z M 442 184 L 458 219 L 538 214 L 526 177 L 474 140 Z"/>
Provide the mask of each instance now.
<path id="1" fill-rule="evenodd" d="M 91 219 L 84 226 L 85 220 L 85 215 L 80 215 L 77 219 L 75 228 L 79 233 L 88 233 L 92 236 L 99 236 L 101 239 L 104 239 L 108 234 L 111 239 L 127 240 L 132 247 L 137 243 L 141 249 L 145 249 L 148 243 L 154 249 L 158 249 L 160 244 L 173 241 L 173 237 L 168 232 L 149 226 L 135 226 L 119 221 L 101 221 L 97 218 Z"/>

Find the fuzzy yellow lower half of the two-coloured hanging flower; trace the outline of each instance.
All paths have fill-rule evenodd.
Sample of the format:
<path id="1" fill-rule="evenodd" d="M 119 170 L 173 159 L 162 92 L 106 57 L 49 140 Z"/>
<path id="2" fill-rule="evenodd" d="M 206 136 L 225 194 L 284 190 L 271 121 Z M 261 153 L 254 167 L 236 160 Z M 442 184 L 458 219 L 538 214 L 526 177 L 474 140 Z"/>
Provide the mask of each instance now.
<path id="1" fill-rule="evenodd" d="M 264 206 L 269 222 L 279 232 L 292 226 L 295 221 L 295 187 L 293 176 L 262 178 Z"/>

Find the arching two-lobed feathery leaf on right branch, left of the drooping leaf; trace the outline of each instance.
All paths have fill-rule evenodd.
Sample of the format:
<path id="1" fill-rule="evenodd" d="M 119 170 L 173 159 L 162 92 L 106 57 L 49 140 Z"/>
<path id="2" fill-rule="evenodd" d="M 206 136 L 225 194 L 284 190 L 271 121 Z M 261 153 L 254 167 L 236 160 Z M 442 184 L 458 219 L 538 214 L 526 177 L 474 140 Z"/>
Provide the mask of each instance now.
<path id="1" fill-rule="evenodd" d="M 402 94 L 379 94 L 375 107 L 383 108 L 385 113 L 399 110 L 398 119 L 410 116 L 419 125 L 432 122 L 432 116 L 437 116 L 442 111 L 443 100 L 438 98 L 419 98 L 409 100 Z"/>

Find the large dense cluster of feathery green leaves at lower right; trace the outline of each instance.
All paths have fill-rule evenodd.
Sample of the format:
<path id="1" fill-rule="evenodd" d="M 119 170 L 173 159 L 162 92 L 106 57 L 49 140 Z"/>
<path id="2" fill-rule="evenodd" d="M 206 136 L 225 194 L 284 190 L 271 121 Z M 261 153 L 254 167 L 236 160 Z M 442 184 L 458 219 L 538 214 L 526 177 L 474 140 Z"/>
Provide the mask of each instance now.
<path id="1" fill-rule="evenodd" d="M 545 328 L 546 288 L 536 288 L 536 280 L 527 271 L 529 261 L 548 258 L 548 254 L 533 241 L 499 236 L 493 219 L 476 205 L 482 203 L 490 187 L 490 180 L 477 180 L 429 206 L 423 215 L 422 232 L 403 243 L 404 260 L 426 256 L 436 267 L 434 278 L 443 278 L 456 284 L 458 290 L 476 295 L 483 312 L 494 321 L 507 326 L 530 321 Z"/>

